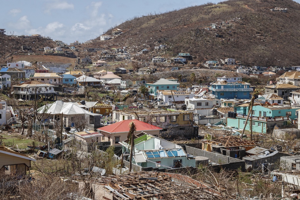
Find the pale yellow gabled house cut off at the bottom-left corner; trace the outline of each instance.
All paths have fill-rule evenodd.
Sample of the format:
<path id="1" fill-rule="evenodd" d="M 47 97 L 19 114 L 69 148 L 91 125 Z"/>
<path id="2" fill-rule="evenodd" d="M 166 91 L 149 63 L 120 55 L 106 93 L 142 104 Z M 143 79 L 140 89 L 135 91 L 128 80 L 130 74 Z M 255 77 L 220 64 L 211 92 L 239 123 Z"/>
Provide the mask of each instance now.
<path id="1" fill-rule="evenodd" d="M 0 146 L 0 169 L 14 175 L 25 175 L 30 170 L 34 158 L 17 153 L 5 146 Z"/>

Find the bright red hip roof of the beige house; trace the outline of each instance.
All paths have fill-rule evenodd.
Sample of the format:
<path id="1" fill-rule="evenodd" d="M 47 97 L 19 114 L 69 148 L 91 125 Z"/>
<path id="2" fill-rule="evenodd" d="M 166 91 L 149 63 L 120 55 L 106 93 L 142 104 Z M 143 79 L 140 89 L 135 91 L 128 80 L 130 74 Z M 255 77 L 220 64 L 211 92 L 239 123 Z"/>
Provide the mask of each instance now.
<path id="1" fill-rule="evenodd" d="M 111 124 L 105 127 L 98 128 L 100 131 L 104 131 L 107 133 L 123 133 L 129 132 L 129 124 L 130 122 L 134 122 L 137 127 L 136 131 L 147 131 L 147 130 L 162 130 L 160 127 L 153 126 L 151 124 L 147 124 L 143 121 L 139 121 L 137 119 L 128 119 L 119 121 L 115 124 Z"/>

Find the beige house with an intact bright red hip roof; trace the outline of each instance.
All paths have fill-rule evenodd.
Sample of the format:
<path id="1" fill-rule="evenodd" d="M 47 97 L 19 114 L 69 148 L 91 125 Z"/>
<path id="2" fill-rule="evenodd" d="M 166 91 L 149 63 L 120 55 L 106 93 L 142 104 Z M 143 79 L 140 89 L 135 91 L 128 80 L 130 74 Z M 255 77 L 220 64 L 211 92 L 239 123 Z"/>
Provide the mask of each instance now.
<path id="1" fill-rule="evenodd" d="M 129 124 L 134 122 L 137 127 L 134 135 L 145 132 L 153 136 L 159 136 L 159 132 L 162 130 L 160 127 L 147 124 L 143 121 L 139 121 L 137 119 L 128 119 L 122 120 L 115 124 L 107 125 L 105 127 L 98 128 L 98 132 L 100 132 L 102 136 L 102 142 L 110 141 L 110 145 L 119 146 L 119 142 L 127 139 L 127 134 L 129 132 Z"/>

